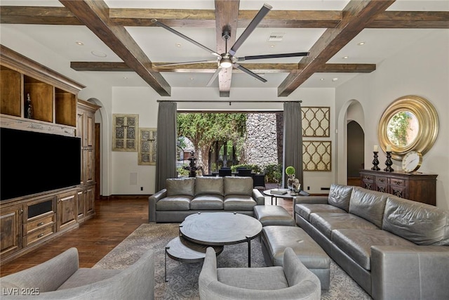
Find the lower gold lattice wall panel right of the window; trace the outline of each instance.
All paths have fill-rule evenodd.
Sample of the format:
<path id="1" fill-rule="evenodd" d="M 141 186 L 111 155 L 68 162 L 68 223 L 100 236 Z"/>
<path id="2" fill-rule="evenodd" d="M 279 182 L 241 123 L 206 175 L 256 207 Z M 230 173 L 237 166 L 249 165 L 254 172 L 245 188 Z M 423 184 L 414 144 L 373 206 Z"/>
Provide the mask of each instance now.
<path id="1" fill-rule="evenodd" d="M 331 171 L 330 141 L 302 141 L 302 165 L 304 171 Z"/>

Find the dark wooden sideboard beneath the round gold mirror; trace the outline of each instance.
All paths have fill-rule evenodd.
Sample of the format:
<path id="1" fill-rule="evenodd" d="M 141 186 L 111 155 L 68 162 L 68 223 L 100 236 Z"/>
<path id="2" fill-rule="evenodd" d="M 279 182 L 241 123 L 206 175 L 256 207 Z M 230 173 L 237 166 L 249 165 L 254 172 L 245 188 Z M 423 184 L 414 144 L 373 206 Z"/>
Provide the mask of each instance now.
<path id="1" fill-rule="evenodd" d="M 361 170 L 361 187 L 436 205 L 436 174 Z"/>

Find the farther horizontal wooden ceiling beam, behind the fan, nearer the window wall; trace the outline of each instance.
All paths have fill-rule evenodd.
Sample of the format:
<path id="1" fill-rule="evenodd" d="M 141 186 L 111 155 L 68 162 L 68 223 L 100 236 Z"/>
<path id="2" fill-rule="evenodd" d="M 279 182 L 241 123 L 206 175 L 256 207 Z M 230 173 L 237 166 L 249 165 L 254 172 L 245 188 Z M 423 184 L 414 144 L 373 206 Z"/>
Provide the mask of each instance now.
<path id="1" fill-rule="evenodd" d="M 191 65 L 168 65 L 166 63 L 152 63 L 154 72 L 196 72 L 213 73 L 217 69 L 216 63 L 195 63 Z M 298 70 L 297 63 L 242 63 L 243 67 L 256 73 L 285 73 Z M 116 62 L 72 62 L 70 67 L 76 71 L 98 72 L 133 72 L 126 63 Z M 318 73 L 370 73 L 376 70 L 375 64 L 369 63 L 328 63 L 319 67 Z M 241 73 L 234 69 L 232 72 Z"/>

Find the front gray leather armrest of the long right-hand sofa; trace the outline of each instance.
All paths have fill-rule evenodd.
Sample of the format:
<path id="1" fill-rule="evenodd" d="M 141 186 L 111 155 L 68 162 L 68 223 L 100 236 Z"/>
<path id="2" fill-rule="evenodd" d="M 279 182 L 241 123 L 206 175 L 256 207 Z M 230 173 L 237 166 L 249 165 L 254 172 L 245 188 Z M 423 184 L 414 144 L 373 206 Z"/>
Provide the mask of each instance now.
<path id="1" fill-rule="evenodd" d="M 374 299 L 445 299 L 448 270 L 447 246 L 371 247 Z"/>

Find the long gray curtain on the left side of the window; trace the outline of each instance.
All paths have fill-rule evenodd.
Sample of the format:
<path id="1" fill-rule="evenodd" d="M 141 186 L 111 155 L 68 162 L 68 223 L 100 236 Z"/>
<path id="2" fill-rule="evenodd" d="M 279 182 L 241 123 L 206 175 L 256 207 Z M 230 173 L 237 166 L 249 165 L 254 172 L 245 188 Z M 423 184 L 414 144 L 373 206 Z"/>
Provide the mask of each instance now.
<path id="1" fill-rule="evenodd" d="M 157 114 L 156 192 L 165 188 L 166 178 L 176 178 L 175 102 L 159 103 Z"/>

